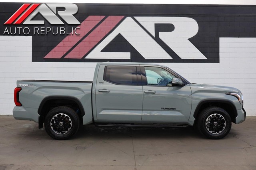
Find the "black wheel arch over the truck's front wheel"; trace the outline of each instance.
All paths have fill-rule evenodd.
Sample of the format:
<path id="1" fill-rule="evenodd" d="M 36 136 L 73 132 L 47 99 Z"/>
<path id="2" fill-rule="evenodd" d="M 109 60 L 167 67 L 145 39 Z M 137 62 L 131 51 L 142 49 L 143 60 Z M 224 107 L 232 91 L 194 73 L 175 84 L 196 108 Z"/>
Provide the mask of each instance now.
<path id="1" fill-rule="evenodd" d="M 224 100 L 224 99 L 211 99 L 211 100 L 206 99 L 201 101 L 200 103 L 198 103 L 194 111 L 193 117 L 196 119 L 197 116 L 200 114 L 200 111 L 210 106 L 216 106 L 224 109 L 230 115 L 231 121 L 233 123 L 236 123 L 236 117 L 237 117 L 236 107 L 231 101 Z"/>

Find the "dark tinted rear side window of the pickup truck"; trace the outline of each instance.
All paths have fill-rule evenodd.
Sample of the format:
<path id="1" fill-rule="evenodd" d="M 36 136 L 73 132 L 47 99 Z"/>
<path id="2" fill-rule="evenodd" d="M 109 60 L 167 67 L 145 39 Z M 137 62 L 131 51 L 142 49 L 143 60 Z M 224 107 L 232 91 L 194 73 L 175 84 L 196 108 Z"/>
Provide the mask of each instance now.
<path id="1" fill-rule="evenodd" d="M 104 80 L 120 85 L 137 85 L 136 66 L 106 66 Z"/>

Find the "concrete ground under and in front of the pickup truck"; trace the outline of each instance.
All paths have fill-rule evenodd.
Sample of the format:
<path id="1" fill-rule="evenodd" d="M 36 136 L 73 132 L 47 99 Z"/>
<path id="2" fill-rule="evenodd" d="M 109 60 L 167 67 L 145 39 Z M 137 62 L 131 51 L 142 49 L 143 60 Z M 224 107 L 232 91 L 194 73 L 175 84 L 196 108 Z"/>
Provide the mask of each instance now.
<path id="1" fill-rule="evenodd" d="M 32 121 L 0 116 L 0 170 L 256 170 L 256 117 L 206 139 L 186 128 L 82 126 L 54 140 Z"/>

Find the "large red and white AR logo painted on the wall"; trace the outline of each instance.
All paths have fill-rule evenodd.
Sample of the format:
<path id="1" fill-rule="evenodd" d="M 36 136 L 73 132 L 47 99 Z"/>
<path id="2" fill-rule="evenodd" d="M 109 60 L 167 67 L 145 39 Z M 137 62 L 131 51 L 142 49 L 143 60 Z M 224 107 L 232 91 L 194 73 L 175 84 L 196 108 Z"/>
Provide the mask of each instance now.
<path id="1" fill-rule="evenodd" d="M 192 18 L 88 16 L 78 32 L 80 35 L 66 36 L 44 59 L 130 59 L 130 52 L 104 52 L 120 34 L 144 59 L 172 59 L 156 38 L 181 59 L 207 59 L 188 40 L 198 32 L 198 24 Z"/>

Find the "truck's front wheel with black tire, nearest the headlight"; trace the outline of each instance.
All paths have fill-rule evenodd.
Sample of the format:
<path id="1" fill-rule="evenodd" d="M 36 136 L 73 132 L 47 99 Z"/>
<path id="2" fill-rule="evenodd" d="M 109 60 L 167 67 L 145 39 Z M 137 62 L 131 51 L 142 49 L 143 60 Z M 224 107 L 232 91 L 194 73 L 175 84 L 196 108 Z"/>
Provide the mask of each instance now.
<path id="1" fill-rule="evenodd" d="M 210 139 L 224 138 L 231 129 L 231 118 L 220 107 L 208 107 L 198 115 L 196 128 L 203 136 Z"/>

